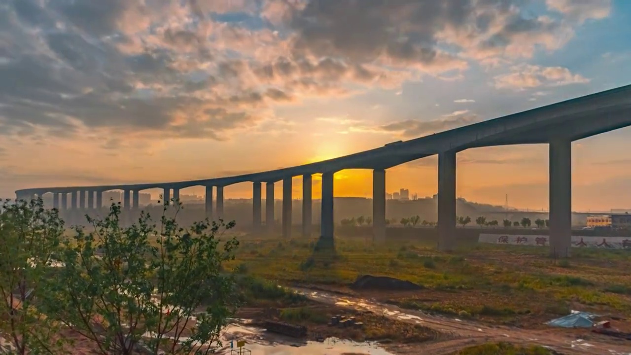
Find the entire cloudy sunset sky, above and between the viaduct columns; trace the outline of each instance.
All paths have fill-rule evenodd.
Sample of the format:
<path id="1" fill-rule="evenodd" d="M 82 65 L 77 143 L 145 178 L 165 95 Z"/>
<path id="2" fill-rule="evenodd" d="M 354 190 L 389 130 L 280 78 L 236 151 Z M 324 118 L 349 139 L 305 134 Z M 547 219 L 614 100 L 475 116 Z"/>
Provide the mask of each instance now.
<path id="1" fill-rule="evenodd" d="M 0 196 L 266 171 L 628 85 L 629 33 L 627 0 L 3 0 Z M 574 210 L 631 208 L 630 135 L 574 143 Z M 546 145 L 457 164 L 458 196 L 548 206 Z M 386 188 L 435 194 L 437 159 Z"/>

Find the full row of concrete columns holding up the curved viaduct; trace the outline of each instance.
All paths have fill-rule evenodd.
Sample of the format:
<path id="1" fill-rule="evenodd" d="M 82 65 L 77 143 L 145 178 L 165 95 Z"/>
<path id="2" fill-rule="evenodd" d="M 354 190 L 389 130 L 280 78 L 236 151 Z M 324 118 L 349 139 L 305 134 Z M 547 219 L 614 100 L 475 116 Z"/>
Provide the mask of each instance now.
<path id="1" fill-rule="evenodd" d="M 550 142 L 550 251 L 554 256 L 569 256 L 572 234 L 572 147 L 571 141 L 558 139 Z M 321 198 L 321 239 L 333 243 L 333 183 L 334 172 L 322 174 Z M 266 215 L 268 231 L 274 228 L 274 182 L 265 182 Z M 290 238 L 292 234 L 292 177 L 283 179 L 282 193 L 282 235 Z M 216 211 L 213 211 L 213 186 L 206 186 L 206 217 L 223 218 L 223 186 L 216 188 Z M 262 182 L 254 182 L 252 188 L 252 224 L 254 232 L 262 231 Z M 456 246 L 456 151 L 439 153 L 438 164 L 438 248 L 442 251 L 453 250 Z M 88 195 L 88 204 L 86 202 Z M 163 201 L 170 200 L 170 188 L 165 188 Z M 77 194 L 79 205 L 77 206 Z M 96 204 L 94 203 L 96 194 Z M 54 193 L 53 204 L 62 211 L 85 210 L 103 207 L 102 191 L 72 191 Z M 179 199 L 180 190 L 173 189 L 173 198 Z M 133 199 L 131 198 L 133 196 Z M 18 196 L 18 199 L 25 196 Z M 29 196 L 26 196 L 29 197 Z M 137 210 L 139 191 L 124 190 L 123 208 Z M 30 196 L 35 198 L 35 195 Z M 130 202 L 133 201 L 133 205 Z M 61 206 L 60 206 L 61 202 Z M 375 241 L 386 239 L 386 171 L 373 171 L 372 223 Z M 302 235 L 310 236 L 312 229 L 312 176 L 302 176 Z"/>

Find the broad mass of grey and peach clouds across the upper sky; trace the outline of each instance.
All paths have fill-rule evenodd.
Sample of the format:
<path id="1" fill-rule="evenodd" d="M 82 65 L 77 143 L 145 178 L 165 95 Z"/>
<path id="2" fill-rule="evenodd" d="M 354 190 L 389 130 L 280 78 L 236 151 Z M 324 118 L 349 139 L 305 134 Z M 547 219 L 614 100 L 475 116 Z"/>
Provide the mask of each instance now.
<path id="1" fill-rule="evenodd" d="M 521 0 L 5 1 L 0 134 L 229 140 L 273 127 L 281 105 L 557 49 L 608 14 L 594 3 L 548 0 L 557 16 L 533 17 Z M 527 74 L 584 80 L 562 69 Z"/>

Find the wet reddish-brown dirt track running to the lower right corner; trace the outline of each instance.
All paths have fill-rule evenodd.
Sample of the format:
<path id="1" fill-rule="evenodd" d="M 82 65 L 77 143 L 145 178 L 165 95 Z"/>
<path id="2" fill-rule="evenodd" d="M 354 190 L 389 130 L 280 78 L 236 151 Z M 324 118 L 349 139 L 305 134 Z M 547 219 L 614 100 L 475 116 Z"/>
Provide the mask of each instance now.
<path id="1" fill-rule="evenodd" d="M 503 341 L 513 344 L 547 346 L 567 355 L 631 355 L 631 341 L 593 334 L 587 330 L 577 334 L 574 330 L 557 328 L 528 330 L 516 327 L 491 327 L 457 318 L 401 310 L 397 306 L 378 303 L 374 300 L 297 287 L 295 290 L 317 302 L 382 313 L 399 321 L 432 328 L 445 335 L 442 339 L 423 344 L 389 346 L 389 349 L 399 354 L 447 355 L 463 347 Z"/>

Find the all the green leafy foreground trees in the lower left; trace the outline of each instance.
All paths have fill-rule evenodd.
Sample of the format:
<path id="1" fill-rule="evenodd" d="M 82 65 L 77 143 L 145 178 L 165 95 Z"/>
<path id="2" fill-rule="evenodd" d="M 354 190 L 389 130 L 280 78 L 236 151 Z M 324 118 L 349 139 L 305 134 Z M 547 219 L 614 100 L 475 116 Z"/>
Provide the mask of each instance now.
<path id="1" fill-rule="evenodd" d="M 88 217 L 90 231 L 75 227 L 64 238 L 56 210 L 44 210 L 41 200 L 4 203 L 0 329 L 18 353 L 61 351 L 52 333 L 61 329 L 104 355 L 213 351 L 239 306 L 233 275 L 221 272 L 239 243 L 218 238 L 234 223 L 184 229 L 163 213 L 159 228 L 145 214 L 122 228 L 120 213 L 112 205 L 105 219 Z"/>

